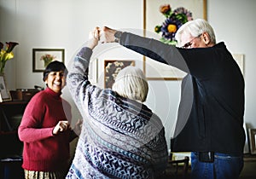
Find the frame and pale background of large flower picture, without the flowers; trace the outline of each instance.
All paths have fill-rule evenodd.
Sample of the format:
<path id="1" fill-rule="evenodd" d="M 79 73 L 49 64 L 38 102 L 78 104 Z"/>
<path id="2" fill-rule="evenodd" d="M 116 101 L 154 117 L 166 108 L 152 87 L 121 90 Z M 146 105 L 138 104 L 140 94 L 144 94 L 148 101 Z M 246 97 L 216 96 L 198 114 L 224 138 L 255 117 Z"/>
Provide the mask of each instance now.
<path id="1" fill-rule="evenodd" d="M 207 0 L 143 0 L 143 28 L 144 36 L 147 38 L 158 38 L 161 36 L 155 31 L 155 27 L 161 25 L 166 16 L 160 12 L 160 6 L 170 4 L 172 11 L 177 8 L 184 8 L 192 13 L 193 19 L 207 20 Z M 173 66 L 144 57 L 144 72 L 148 80 L 180 80 L 185 72 Z"/>

